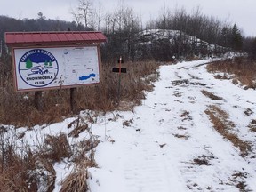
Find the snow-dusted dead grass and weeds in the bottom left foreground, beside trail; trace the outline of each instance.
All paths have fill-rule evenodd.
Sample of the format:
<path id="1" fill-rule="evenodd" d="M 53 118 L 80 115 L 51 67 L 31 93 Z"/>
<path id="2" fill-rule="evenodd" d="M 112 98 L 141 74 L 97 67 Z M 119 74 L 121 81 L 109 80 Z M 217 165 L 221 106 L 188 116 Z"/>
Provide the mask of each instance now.
<path id="1" fill-rule="evenodd" d="M 76 126 L 69 126 L 70 132 L 76 132 L 77 126 L 83 127 L 85 123 L 81 119 L 74 121 Z M 70 138 L 64 133 L 57 136 L 36 133 L 34 144 L 28 144 L 20 135 L 10 131 L 1 127 L 0 191 L 53 191 L 56 183 L 53 164 L 64 159 L 75 164 L 75 168 L 63 178 L 61 191 L 87 190 L 87 168 L 97 166 L 93 148 L 99 143 L 89 128 L 84 130 L 90 135 L 87 139 L 76 141 L 73 134 Z"/>

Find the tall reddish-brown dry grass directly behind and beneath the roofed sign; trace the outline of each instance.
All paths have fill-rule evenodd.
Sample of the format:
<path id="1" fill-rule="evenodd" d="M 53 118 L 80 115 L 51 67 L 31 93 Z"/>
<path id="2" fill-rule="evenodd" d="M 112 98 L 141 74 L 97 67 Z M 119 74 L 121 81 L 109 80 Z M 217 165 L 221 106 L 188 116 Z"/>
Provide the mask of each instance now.
<path id="1" fill-rule="evenodd" d="M 111 111 L 119 108 L 119 103 L 126 103 L 119 109 L 131 109 L 145 98 L 143 91 L 153 89 L 152 81 L 156 81 L 155 61 L 128 62 L 122 66 L 127 68 L 121 74 L 121 92 L 118 95 L 118 73 L 113 73 L 112 64 L 102 64 L 100 84 L 79 87 L 76 89 L 76 112 L 84 109 Z M 152 75 L 153 74 L 153 75 Z M 14 92 L 12 78 L 9 77 L 0 87 L 0 124 L 31 127 L 35 124 L 52 124 L 60 122 L 63 117 L 72 114 L 69 106 L 68 89 L 43 92 L 43 111 L 34 107 L 33 92 Z M 129 103 L 129 104 L 128 104 Z M 124 108 L 125 107 L 125 108 Z"/>

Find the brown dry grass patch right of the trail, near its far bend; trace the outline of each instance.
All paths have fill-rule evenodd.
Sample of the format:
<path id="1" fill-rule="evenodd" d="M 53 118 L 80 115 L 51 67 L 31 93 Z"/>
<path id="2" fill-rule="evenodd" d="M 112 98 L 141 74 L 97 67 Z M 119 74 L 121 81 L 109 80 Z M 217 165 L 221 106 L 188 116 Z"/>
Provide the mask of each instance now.
<path id="1" fill-rule="evenodd" d="M 244 58 L 220 60 L 212 62 L 206 68 L 208 72 L 224 73 L 224 75 L 216 75 L 215 78 L 232 78 L 234 84 L 240 82 L 244 85 L 244 89 L 256 88 L 256 61 Z"/>

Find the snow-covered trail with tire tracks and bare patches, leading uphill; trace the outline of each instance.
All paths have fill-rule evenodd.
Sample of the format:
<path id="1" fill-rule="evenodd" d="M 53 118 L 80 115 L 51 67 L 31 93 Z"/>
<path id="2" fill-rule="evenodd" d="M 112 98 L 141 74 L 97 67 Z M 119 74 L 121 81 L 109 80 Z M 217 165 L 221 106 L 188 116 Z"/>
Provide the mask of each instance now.
<path id="1" fill-rule="evenodd" d="M 214 79 L 207 62 L 162 66 L 155 90 L 133 113 L 102 117 L 93 128 L 102 142 L 95 154 L 99 168 L 90 169 L 92 192 L 256 191 L 255 158 L 240 156 L 204 113 L 220 105 L 239 137 L 255 146 L 255 132 L 244 128 L 255 119 L 244 116 L 246 108 L 256 111 L 255 92 Z M 223 100 L 211 100 L 202 90 Z"/>

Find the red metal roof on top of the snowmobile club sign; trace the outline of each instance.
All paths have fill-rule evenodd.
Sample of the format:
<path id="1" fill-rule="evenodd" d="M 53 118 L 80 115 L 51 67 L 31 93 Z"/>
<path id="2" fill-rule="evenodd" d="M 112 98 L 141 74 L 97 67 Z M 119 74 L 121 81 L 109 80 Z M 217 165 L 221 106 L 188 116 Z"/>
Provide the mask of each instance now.
<path id="1" fill-rule="evenodd" d="M 5 43 L 10 46 L 59 45 L 59 44 L 100 44 L 107 38 L 101 32 L 6 32 Z"/>

